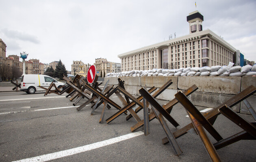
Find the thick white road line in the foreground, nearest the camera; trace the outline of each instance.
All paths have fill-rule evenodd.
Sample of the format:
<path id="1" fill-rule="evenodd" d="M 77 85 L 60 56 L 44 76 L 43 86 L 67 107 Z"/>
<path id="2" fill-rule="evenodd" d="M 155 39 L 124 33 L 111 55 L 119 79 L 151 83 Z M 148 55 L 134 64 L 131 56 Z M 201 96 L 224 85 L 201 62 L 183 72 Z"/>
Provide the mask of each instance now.
<path id="1" fill-rule="evenodd" d="M 129 133 L 129 134 L 125 134 L 123 136 L 115 137 L 113 139 L 108 139 L 108 140 L 105 140 L 105 141 L 100 141 L 100 142 L 92 143 L 92 144 L 89 144 L 89 145 L 76 147 L 76 148 L 73 148 L 73 149 L 67 149 L 67 150 L 63 150 L 63 151 L 59 151 L 59 152 L 49 153 L 49 154 L 36 156 L 36 157 L 33 157 L 33 158 L 17 160 L 17 161 L 13 161 L 13 162 L 46 162 L 46 161 L 49 161 L 49 160 L 59 159 L 59 158 L 63 158 L 63 157 L 66 157 L 66 156 L 71 156 L 71 155 L 74 155 L 74 154 L 77 154 L 77 153 L 82 153 L 82 152 L 86 152 L 86 151 L 89 151 L 89 150 L 104 147 L 104 146 L 107 146 L 107 145 L 111 145 L 111 144 L 114 144 L 114 143 L 118 143 L 120 141 L 131 139 L 133 137 L 140 136 L 142 134 L 144 134 L 142 131 Z"/>

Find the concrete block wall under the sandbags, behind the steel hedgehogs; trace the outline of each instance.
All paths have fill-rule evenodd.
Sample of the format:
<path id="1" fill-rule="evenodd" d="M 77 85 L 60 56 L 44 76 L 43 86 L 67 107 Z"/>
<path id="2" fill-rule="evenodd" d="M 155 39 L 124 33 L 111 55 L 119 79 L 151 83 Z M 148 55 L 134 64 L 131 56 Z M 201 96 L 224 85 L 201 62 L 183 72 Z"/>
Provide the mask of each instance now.
<path id="1" fill-rule="evenodd" d="M 256 77 L 120 77 L 125 81 L 126 90 L 133 95 L 140 95 L 138 90 L 147 85 L 148 88 L 155 86 L 160 88 L 170 79 L 172 84 L 157 98 L 161 100 L 172 100 L 174 94 L 179 90 L 186 90 L 193 84 L 198 90 L 189 96 L 193 104 L 200 107 L 215 108 L 219 104 L 233 97 L 250 85 L 256 87 Z M 118 85 L 116 77 L 105 78 L 104 83 Z M 247 98 L 256 111 L 256 93 Z M 243 102 L 232 107 L 235 111 L 249 114 Z"/>

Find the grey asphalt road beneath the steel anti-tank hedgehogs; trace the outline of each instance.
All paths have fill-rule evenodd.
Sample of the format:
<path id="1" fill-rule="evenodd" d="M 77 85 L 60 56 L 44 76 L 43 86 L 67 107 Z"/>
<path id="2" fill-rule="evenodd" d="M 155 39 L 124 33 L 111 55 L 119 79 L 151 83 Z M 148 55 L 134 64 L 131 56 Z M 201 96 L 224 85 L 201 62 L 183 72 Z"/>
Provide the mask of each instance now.
<path id="1" fill-rule="evenodd" d="M 210 161 L 200 137 L 196 134 L 188 133 L 177 139 L 183 153 L 176 156 L 170 144 L 162 144 L 165 132 L 157 119 L 150 122 L 150 134 L 144 136 L 141 128 L 136 133 L 131 132 L 130 127 L 137 122 L 135 119 L 126 121 L 124 114 L 110 124 L 106 124 L 105 120 L 100 124 L 103 106 L 90 115 L 91 107 L 76 111 L 73 102 L 65 95 L 50 94 L 44 97 L 43 94 L 0 93 L 0 162 L 26 161 L 24 159 L 33 157 L 40 161 L 43 157 L 50 159 L 60 155 L 61 158 L 50 161 Z M 115 95 L 111 100 L 121 105 Z M 86 99 L 82 99 L 77 105 L 85 101 Z M 158 101 L 162 105 L 167 103 Z M 107 109 L 104 119 L 116 112 L 117 109 L 113 107 Z M 174 107 L 171 115 L 181 127 L 190 123 L 185 109 L 180 104 Z M 139 116 L 143 119 L 142 111 Z M 242 116 L 250 122 L 253 121 L 250 115 Z M 171 131 L 177 130 L 167 123 Z M 214 127 L 223 138 L 241 131 L 241 128 L 223 115 L 219 115 Z M 208 136 L 213 143 L 216 142 L 212 136 Z M 255 146 L 256 141 L 253 140 L 239 141 L 217 152 L 224 162 L 255 162 Z M 72 155 L 70 152 L 73 152 Z"/>

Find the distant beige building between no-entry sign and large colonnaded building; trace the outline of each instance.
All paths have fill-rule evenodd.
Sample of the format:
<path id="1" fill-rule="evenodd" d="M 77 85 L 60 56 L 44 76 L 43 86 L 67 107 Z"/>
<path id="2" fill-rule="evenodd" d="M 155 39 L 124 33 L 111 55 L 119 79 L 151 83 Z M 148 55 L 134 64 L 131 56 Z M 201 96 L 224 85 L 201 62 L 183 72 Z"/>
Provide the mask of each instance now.
<path id="1" fill-rule="evenodd" d="M 94 63 L 96 67 L 96 74 L 100 76 L 102 72 L 102 76 L 109 72 L 121 72 L 121 64 L 116 62 L 109 62 L 105 58 L 97 58 Z"/>

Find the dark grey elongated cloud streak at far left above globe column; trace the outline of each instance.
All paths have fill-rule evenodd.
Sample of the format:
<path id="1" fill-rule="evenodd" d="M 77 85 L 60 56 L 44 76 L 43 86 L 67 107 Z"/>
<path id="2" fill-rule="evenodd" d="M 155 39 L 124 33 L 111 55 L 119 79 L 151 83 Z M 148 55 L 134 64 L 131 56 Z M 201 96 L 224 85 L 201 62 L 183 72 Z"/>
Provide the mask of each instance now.
<path id="1" fill-rule="evenodd" d="M 2 29 L 2 32 L 9 38 L 14 38 L 14 39 L 20 39 L 20 40 L 24 40 L 24 41 L 29 41 L 35 44 L 39 44 L 40 41 L 37 39 L 36 36 L 33 36 L 31 34 L 27 34 L 27 33 L 22 33 L 19 32 L 17 30 L 9 30 L 9 29 Z"/>

